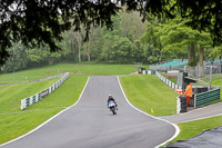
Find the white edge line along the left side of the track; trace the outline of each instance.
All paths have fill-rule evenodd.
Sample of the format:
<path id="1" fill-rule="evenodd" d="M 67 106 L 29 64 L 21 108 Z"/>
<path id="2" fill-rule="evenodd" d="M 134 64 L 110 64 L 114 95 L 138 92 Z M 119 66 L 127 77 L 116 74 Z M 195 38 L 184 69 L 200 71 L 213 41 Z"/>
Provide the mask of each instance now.
<path id="1" fill-rule="evenodd" d="M 24 134 L 24 135 L 22 135 L 22 136 L 20 136 L 20 137 L 18 137 L 18 138 L 16 138 L 16 139 L 13 139 L 13 140 L 10 140 L 10 141 L 7 141 L 7 142 L 4 142 L 4 144 L 0 145 L 0 147 L 3 147 L 3 146 L 9 145 L 9 144 L 13 142 L 13 141 L 17 141 L 17 140 L 19 140 L 19 139 L 24 138 L 26 136 L 28 136 L 28 135 L 34 132 L 36 130 L 40 129 L 41 127 L 43 127 L 44 125 L 47 125 L 48 122 L 50 122 L 51 120 L 53 120 L 54 118 L 57 118 L 59 115 L 63 114 L 63 112 L 67 111 L 68 109 L 74 107 L 74 106 L 80 101 L 80 99 L 81 99 L 81 97 L 82 97 L 82 95 L 83 95 L 83 92 L 84 92 L 84 89 L 85 89 L 87 86 L 88 86 L 89 80 L 90 80 L 90 77 L 88 78 L 87 83 L 84 85 L 84 88 L 83 88 L 83 90 L 82 90 L 82 92 L 81 92 L 79 99 L 74 102 L 74 105 L 72 105 L 72 106 L 70 106 L 70 107 L 68 107 L 68 108 L 65 108 L 64 110 L 61 110 L 59 114 L 54 115 L 53 117 L 51 117 L 50 119 L 48 119 L 47 121 L 44 121 L 43 124 L 41 124 L 40 126 L 38 126 L 37 128 L 32 129 L 31 131 L 29 131 L 29 132 L 27 132 L 27 134 Z"/>

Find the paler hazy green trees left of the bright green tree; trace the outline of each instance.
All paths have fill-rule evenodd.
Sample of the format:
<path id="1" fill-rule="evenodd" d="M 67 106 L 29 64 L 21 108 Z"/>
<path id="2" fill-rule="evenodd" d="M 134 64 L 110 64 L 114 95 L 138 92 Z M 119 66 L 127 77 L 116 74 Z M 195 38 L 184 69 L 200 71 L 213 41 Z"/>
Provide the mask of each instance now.
<path id="1" fill-rule="evenodd" d="M 114 63 L 142 61 L 144 59 L 143 47 L 138 39 L 144 32 L 145 24 L 140 21 L 139 13 L 121 12 L 112 17 L 112 20 L 114 22 L 112 31 L 105 28 L 92 27 L 88 42 L 83 42 L 84 30 L 74 32 L 74 28 L 72 27 L 69 31 L 62 33 L 63 40 L 57 42 L 62 49 L 59 52 L 50 52 L 49 46 L 30 48 L 27 50 L 27 47 L 17 43 L 22 47 L 24 50 L 23 52 L 26 52 L 23 55 L 26 58 L 21 59 L 26 61 L 23 68 L 63 61 L 79 62 L 80 58 L 82 61 L 93 60 L 97 62 Z M 13 46 L 12 48 L 18 48 L 18 46 Z M 12 48 L 8 50 L 11 52 Z M 9 60 L 12 60 L 12 57 L 10 57 Z M 11 71 L 9 69 L 22 69 L 21 67 L 19 69 L 13 67 L 13 65 L 8 65 L 7 61 L 2 71 L 9 72 Z"/>

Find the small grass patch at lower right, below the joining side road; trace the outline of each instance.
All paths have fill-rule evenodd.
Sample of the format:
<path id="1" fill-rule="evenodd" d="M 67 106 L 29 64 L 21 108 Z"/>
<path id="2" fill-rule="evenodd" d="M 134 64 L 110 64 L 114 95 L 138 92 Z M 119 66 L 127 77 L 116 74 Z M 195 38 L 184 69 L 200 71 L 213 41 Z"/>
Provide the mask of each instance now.
<path id="1" fill-rule="evenodd" d="M 222 125 L 222 116 L 211 117 L 206 119 L 178 124 L 180 128 L 179 136 L 171 142 L 176 140 L 185 140 L 201 134 L 204 130 L 213 129 Z"/>

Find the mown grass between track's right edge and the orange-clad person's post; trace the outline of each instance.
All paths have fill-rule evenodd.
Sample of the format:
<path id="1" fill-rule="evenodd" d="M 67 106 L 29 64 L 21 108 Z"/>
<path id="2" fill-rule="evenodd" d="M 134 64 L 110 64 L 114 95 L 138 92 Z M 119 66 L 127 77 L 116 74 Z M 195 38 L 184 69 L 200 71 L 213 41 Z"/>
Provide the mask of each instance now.
<path id="1" fill-rule="evenodd" d="M 175 114 L 178 93 L 157 76 L 120 77 L 128 99 L 138 108 L 153 116 Z"/>

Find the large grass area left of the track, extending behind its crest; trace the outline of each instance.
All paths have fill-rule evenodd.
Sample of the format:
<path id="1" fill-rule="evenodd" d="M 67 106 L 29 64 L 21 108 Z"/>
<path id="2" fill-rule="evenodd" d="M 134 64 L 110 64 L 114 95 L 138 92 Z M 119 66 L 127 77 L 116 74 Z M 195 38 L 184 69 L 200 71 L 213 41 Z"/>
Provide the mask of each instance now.
<path id="1" fill-rule="evenodd" d="M 73 75 L 73 71 L 77 73 Z M 41 82 L 0 87 L 0 144 L 27 134 L 63 108 L 73 105 L 79 98 L 88 76 L 129 75 L 133 71 L 135 71 L 134 65 L 63 63 L 0 75 L 1 83 L 10 83 L 37 80 L 58 73 L 70 72 L 70 78 L 53 93 L 47 96 L 38 103 L 28 107 L 22 112 L 18 112 L 20 111 L 21 99 L 48 88 L 60 78 Z"/>

